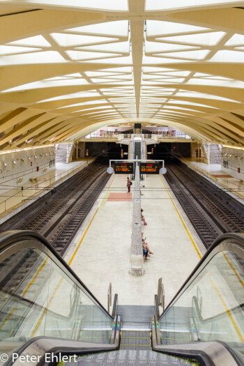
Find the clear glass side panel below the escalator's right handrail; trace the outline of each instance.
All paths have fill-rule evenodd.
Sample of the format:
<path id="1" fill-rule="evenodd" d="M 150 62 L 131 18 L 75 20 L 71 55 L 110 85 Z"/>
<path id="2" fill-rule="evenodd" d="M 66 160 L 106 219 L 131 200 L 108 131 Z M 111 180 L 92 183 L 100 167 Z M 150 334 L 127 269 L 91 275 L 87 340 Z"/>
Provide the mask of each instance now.
<path id="1" fill-rule="evenodd" d="M 206 259 L 160 318 L 161 344 L 222 341 L 244 360 L 243 247 Z"/>

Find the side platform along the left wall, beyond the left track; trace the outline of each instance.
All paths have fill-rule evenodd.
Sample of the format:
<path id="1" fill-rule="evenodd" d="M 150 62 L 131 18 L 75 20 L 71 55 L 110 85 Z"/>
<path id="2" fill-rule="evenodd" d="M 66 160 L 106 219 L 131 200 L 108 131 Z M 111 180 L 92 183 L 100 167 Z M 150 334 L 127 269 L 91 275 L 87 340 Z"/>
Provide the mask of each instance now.
<path id="1" fill-rule="evenodd" d="M 23 208 L 26 208 L 26 206 L 29 206 L 29 204 L 33 203 L 33 200 L 45 195 L 47 190 L 56 187 L 79 170 L 84 169 L 93 160 L 95 159 L 84 158 L 68 164 L 56 162 L 55 167 L 47 173 L 41 175 L 39 172 L 37 179 L 36 171 L 26 175 L 28 181 L 22 185 L 16 183 L 16 178 L 18 177 L 6 177 L 0 183 L 0 224 Z M 24 177 L 26 178 L 26 176 Z"/>

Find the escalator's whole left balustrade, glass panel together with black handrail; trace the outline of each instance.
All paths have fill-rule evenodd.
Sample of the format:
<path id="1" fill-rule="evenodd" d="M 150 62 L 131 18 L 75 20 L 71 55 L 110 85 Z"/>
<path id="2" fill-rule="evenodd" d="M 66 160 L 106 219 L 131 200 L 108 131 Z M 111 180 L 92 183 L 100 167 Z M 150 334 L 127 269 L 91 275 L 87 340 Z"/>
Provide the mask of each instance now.
<path id="1" fill-rule="evenodd" d="M 119 348 L 118 318 L 111 317 L 43 236 L 1 233 L 0 264 L 1 353 L 7 356 L 4 361 L 9 358 L 8 365 L 15 352 L 44 359 L 56 350 Z M 40 358 L 31 365 L 40 365 Z"/>

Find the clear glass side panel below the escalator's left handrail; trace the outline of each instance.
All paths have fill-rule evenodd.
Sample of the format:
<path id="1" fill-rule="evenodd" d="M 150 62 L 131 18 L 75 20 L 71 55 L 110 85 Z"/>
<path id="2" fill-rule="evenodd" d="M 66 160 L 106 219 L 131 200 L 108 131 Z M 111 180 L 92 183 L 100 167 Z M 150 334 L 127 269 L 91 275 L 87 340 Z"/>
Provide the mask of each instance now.
<path id="1" fill-rule="evenodd" d="M 40 336 L 109 344 L 112 318 L 36 244 L 36 239 L 20 241 L 16 252 L 0 252 L 0 353 L 10 354 Z"/>

